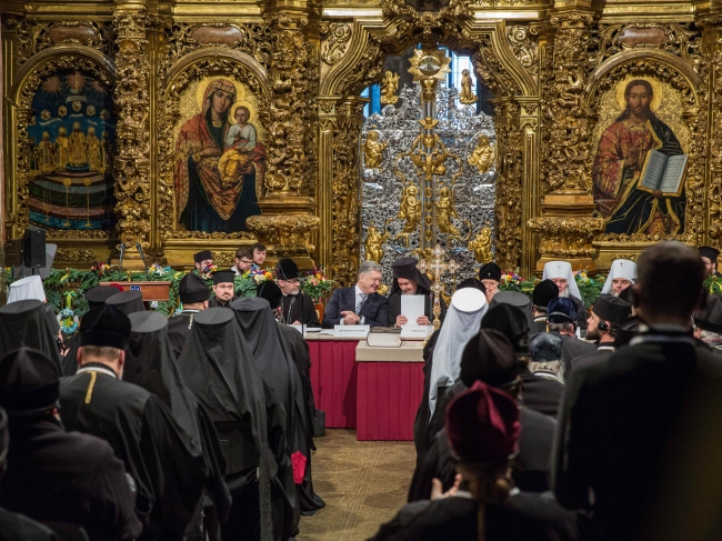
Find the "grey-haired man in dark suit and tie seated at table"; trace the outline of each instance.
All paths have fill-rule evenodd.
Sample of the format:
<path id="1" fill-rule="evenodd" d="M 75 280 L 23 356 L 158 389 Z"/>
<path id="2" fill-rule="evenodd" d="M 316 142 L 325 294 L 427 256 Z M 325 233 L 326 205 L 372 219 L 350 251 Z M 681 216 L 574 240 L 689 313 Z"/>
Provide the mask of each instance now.
<path id="1" fill-rule="evenodd" d="M 377 293 L 381 285 L 381 266 L 364 261 L 359 267 L 359 280 L 351 288 L 339 288 L 331 295 L 323 314 L 323 327 L 367 324 L 387 327 L 387 298 Z"/>

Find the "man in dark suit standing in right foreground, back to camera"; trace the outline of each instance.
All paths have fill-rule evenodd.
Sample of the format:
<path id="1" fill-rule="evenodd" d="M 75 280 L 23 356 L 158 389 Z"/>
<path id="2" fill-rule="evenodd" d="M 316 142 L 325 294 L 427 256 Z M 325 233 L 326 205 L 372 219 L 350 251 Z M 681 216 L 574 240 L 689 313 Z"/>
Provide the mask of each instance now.
<path id="1" fill-rule="evenodd" d="M 668 492 L 663 475 L 690 464 L 690 434 L 718 430 L 701 401 L 722 394 L 722 361 L 690 329 L 704 266 L 692 248 L 661 242 L 639 258 L 638 277 L 640 333 L 606 362 L 574 370 L 560 409 L 554 492 L 562 505 L 592 511 L 590 540 L 660 539 L 644 533 L 664 519 L 648 515 Z M 679 503 L 685 494 L 664 495 Z"/>

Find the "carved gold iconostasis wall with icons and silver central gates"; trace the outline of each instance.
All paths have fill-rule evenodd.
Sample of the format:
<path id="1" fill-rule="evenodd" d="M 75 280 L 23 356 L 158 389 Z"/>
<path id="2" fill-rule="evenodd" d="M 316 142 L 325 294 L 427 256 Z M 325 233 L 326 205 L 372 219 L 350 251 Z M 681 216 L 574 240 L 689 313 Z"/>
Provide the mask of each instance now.
<path id="1" fill-rule="evenodd" d="M 121 242 L 231 264 L 260 241 L 349 284 L 362 259 L 437 242 L 522 275 L 722 242 L 722 0 L 6 0 L 0 16 L 7 238 L 46 229 L 56 266 Z"/>

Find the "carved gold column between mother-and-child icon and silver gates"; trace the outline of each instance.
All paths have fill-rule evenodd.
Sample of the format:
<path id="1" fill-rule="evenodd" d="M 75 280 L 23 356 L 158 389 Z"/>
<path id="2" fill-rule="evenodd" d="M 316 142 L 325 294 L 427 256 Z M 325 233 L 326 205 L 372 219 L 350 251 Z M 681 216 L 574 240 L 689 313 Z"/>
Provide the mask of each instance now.
<path id="1" fill-rule="evenodd" d="M 293 257 L 301 268 L 312 268 L 312 238 L 320 218 L 314 216 L 315 137 L 309 121 L 311 94 L 318 76 L 313 47 L 303 33 L 304 6 L 278 9 L 271 18 L 271 123 L 269 168 L 258 206 L 261 216 L 248 219 L 248 228 L 270 244 L 278 258 Z"/>

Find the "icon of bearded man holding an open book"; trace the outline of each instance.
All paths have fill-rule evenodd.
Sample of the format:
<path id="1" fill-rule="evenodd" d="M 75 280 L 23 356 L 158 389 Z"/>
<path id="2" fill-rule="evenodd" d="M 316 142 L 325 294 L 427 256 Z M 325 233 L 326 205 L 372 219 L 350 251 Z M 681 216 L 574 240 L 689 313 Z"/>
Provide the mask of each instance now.
<path id="1" fill-rule="evenodd" d="M 602 97 L 592 194 L 605 233 L 684 232 L 690 136 L 682 103 L 652 77 L 630 76 Z"/>

